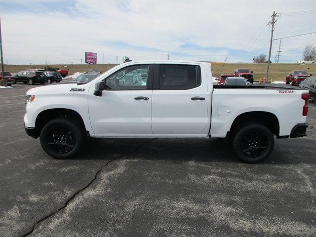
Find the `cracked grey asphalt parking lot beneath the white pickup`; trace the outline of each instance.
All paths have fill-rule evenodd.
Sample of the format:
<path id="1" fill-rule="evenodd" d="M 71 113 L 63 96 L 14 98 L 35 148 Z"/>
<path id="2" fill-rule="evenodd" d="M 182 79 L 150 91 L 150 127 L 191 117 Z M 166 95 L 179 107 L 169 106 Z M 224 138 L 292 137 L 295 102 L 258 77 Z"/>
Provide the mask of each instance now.
<path id="1" fill-rule="evenodd" d="M 216 138 L 90 139 L 62 160 L 24 131 L 34 86 L 0 89 L 1 237 L 316 236 L 314 103 L 308 136 L 258 164 Z"/>

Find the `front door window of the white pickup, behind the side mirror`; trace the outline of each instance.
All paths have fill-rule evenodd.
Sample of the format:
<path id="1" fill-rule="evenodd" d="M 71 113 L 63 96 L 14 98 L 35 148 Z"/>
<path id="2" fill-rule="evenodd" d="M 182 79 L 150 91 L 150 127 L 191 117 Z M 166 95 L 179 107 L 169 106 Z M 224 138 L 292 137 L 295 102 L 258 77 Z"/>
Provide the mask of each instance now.
<path id="1" fill-rule="evenodd" d="M 107 90 L 146 90 L 149 65 L 129 66 L 106 78 Z"/>

